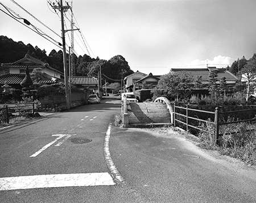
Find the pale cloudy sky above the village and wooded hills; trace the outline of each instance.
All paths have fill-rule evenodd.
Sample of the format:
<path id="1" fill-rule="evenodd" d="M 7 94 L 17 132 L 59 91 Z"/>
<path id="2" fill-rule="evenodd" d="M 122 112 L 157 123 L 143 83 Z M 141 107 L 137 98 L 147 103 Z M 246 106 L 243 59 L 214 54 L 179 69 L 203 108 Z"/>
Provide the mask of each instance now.
<path id="1" fill-rule="evenodd" d="M 56 0 L 2 0 L 21 18 L 62 43 Z M 163 75 L 171 68 L 230 66 L 256 53 L 255 0 L 73 0 L 74 50 L 103 60 L 121 55 L 131 70 Z M 18 4 L 18 5 L 17 5 Z M 66 1 L 63 2 L 66 5 Z M 23 9 L 22 9 L 23 8 Z M 0 35 L 38 46 L 47 54 L 59 46 L 5 14 L 0 5 Z M 3 10 L 3 11 L 2 11 Z M 12 12 L 13 13 L 13 12 Z M 29 14 L 28 14 L 29 13 Z M 32 16 L 31 16 L 31 15 Z M 39 23 L 38 19 L 43 24 Z M 65 12 L 71 29 L 71 10 Z M 65 32 L 71 46 L 71 31 Z"/>

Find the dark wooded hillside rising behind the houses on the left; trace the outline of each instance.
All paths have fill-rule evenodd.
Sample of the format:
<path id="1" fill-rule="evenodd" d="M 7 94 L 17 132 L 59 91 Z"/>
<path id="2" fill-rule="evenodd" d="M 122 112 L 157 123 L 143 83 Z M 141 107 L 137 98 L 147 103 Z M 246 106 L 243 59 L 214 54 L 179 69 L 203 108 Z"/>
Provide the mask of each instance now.
<path id="1" fill-rule="evenodd" d="M 63 70 L 63 52 L 53 49 L 47 56 L 45 49 L 31 44 L 25 45 L 22 41 L 15 42 L 7 36 L 0 36 L 0 63 L 15 62 L 23 58 L 26 53 L 30 53 L 32 57 L 38 58 L 43 62 L 47 62 L 50 66 L 57 70 Z M 74 54 L 75 75 L 76 76 L 93 76 L 97 77 L 101 69 L 102 79 L 109 83 L 119 82 L 127 75 L 134 73 L 130 69 L 128 62 L 121 55 L 113 56 L 110 60 L 100 58 L 91 58 L 84 56 L 76 56 Z M 67 54 L 67 59 L 69 59 Z M 69 64 L 69 62 L 68 62 Z"/>

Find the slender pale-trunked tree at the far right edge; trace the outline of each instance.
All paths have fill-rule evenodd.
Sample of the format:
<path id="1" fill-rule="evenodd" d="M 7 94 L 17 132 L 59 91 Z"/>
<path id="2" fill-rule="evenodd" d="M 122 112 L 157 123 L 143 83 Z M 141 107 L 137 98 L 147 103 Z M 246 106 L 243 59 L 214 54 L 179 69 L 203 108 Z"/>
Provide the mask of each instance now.
<path id="1" fill-rule="evenodd" d="M 248 101 L 250 92 L 255 87 L 256 79 L 256 53 L 247 61 L 247 64 L 241 70 L 241 77 L 246 81 L 246 101 Z"/>

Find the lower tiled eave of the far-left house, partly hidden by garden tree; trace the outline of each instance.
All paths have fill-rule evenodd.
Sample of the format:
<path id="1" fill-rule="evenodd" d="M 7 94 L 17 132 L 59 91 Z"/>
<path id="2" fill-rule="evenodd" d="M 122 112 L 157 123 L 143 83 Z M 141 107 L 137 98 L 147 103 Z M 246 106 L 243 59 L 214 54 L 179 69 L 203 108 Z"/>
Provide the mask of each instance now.
<path id="1" fill-rule="evenodd" d="M 20 84 L 20 82 L 23 81 L 25 76 L 26 76 L 25 74 L 0 75 L 0 84 L 5 84 L 5 82 L 7 82 L 10 85 L 11 84 Z M 59 78 L 53 78 L 50 75 L 47 75 L 44 73 L 44 77 L 38 83 L 52 84 L 52 83 L 57 83 L 57 82 L 64 82 L 64 81 Z"/>

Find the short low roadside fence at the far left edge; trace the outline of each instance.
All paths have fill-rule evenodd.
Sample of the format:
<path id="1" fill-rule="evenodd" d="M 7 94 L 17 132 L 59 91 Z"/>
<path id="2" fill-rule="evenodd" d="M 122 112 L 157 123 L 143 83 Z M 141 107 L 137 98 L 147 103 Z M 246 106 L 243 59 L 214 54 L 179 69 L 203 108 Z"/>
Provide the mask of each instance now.
<path id="1" fill-rule="evenodd" d="M 15 107 L 9 107 L 6 105 L 4 108 L 0 108 L 0 122 L 4 121 L 9 124 L 10 119 L 20 116 L 27 116 L 32 113 L 35 116 L 35 104 L 16 105 Z"/>

